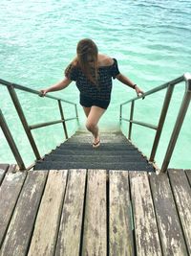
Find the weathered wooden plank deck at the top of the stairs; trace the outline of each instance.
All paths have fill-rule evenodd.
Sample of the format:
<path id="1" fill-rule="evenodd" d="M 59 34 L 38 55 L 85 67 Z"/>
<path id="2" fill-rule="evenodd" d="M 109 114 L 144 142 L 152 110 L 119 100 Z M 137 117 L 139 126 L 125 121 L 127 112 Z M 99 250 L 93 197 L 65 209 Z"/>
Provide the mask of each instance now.
<path id="1" fill-rule="evenodd" d="M 12 172 L 0 165 L 0 255 L 191 254 L 191 170 Z"/>

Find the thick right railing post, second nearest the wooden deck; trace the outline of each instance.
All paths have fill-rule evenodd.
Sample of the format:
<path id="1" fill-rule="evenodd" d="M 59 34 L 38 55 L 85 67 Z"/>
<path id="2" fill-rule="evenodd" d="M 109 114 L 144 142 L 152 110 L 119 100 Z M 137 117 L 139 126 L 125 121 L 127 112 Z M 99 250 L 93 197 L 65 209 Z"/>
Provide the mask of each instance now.
<path id="1" fill-rule="evenodd" d="M 162 109 L 161 109 L 161 113 L 160 113 L 160 117 L 159 117 L 159 124 L 158 124 L 158 129 L 156 132 L 156 136 L 155 136 L 155 140 L 153 143 L 153 148 L 151 151 L 151 155 L 150 155 L 150 159 L 149 161 L 153 162 L 155 159 L 155 155 L 156 155 L 156 151 L 158 149 L 158 145 L 159 145 L 159 138 L 161 135 L 161 131 L 164 125 L 164 121 L 166 118 L 166 114 L 168 111 L 168 107 L 172 98 L 172 94 L 173 94 L 173 90 L 174 90 L 175 84 L 169 84 L 167 91 L 166 91 L 166 95 L 165 95 L 165 99 L 164 99 L 164 103 L 162 105 Z"/>

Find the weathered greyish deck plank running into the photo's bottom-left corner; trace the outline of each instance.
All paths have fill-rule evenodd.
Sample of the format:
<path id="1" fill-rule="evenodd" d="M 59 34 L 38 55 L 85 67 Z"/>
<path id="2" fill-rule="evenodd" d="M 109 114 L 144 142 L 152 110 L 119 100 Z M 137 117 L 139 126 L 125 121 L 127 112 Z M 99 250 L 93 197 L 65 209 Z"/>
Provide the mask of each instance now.
<path id="1" fill-rule="evenodd" d="M 1 256 L 26 255 L 47 174 L 47 171 L 28 173 L 0 250 Z"/>

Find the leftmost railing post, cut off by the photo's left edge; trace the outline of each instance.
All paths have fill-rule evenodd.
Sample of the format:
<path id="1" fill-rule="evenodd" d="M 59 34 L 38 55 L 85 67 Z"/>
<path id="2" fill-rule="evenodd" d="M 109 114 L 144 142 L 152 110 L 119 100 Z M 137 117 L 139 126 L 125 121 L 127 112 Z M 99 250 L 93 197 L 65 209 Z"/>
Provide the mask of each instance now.
<path id="1" fill-rule="evenodd" d="M 20 155 L 20 153 L 19 153 L 19 151 L 16 147 L 16 144 L 15 144 L 13 138 L 12 138 L 11 131 L 10 131 L 10 129 L 9 129 L 7 123 L 6 123 L 6 120 L 3 116 L 3 113 L 1 111 L 1 109 L 0 109 L 0 126 L 1 126 L 1 128 L 4 132 L 4 135 L 5 135 L 5 137 L 8 141 L 8 144 L 10 145 L 11 151 L 14 155 L 14 158 L 16 159 L 16 162 L 19 166 L 19 169 L 20 170 L 26 170 L 23 159 L 22 159 L 22 157 L 21 157 L 21 155 Z"/>

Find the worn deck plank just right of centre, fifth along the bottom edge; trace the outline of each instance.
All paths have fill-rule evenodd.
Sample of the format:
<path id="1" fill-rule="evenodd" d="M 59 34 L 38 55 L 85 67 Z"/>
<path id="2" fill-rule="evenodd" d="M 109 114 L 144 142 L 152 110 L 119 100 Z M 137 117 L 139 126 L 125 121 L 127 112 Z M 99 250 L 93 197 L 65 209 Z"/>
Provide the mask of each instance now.
<path id="1" fill-rule="evenodd" d="M 110 171 L 110 255 L 134 255 L 128 172 Z"/>

